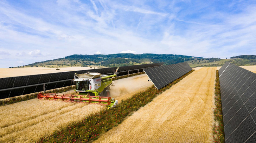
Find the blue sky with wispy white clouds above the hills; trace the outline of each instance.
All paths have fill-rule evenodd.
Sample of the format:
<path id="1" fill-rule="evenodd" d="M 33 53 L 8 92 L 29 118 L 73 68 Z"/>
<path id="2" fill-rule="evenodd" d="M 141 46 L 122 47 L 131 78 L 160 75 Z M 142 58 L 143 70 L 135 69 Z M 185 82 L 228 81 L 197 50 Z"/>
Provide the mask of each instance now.
<path id="1" fill-rule="evenodd" d="M 256 54 L 254 0 L 0 0 L 0 68 L 73 54 Z"/>

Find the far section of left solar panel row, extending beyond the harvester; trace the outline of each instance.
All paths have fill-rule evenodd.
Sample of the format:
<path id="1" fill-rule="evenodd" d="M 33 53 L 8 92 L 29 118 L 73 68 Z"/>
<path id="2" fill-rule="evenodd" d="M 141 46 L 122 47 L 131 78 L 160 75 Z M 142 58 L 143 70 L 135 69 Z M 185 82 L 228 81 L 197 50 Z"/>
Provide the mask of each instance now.
<path id="1" fill-rule="evenodd" d="M 143 72 L 143 69 L 155 67 L 155 66 L 162 66 L 164 63 L 153 63 L 153 64 L 143 64 L 143 65 L 130 65 L 130 66 L 120 66 L 117 70 L 117 76 L 124 76 L 128 74 L 133 74 L 137 72 Z M 139 71 L 138 71 L 139 70 Z"/>

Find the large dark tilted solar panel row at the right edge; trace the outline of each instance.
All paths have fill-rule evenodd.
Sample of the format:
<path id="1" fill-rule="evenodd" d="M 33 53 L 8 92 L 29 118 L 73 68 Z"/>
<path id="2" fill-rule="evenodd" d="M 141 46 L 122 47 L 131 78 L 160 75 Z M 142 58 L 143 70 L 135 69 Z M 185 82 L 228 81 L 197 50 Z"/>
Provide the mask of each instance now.
<path id="1" fill-rule="evenodd" d="M 229 62 L 219 72 L 226 143 L 256 143 L 256 74 Z"/>

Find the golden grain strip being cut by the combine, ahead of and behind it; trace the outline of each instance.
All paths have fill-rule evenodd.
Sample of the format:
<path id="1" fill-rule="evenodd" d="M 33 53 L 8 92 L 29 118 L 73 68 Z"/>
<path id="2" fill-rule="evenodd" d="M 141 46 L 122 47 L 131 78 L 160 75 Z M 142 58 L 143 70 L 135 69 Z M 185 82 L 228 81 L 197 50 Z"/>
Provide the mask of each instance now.
<path id="1" fill-rule="evenodd" d="M 121 102 L 152 86 L 146 74 L 113 81 L 111 97 Z M 67 94 L 71 94 L 66 92 Z M 83 119 L 105 106 L 31 99 L 0 107 L 0 143 L 37 142 L 70 122 Z"/>

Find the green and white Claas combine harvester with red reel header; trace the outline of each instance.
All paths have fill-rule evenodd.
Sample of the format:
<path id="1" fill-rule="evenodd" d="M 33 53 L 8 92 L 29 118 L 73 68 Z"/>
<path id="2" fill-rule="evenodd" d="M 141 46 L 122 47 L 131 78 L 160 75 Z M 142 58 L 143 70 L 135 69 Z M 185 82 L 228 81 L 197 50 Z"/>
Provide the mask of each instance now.
<path id="1" fill-rule="evenodd" d="M 114 98 L 111 99 L 109 92 L 110 85 L 112 84 L 111 77 L 115 76 L 116 74 L 111 76 L 104 76 L 101 73 L 75 73 L 73 84 L 76 86 L 75 91 L 79 93 L 78 95 L 39 93 L 37 98 L 66 102 L 94 103 L 106 105 L 108 108 L 115 107 L 118 101 Z"/>

